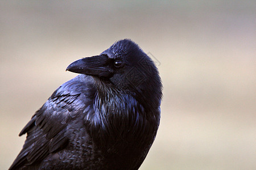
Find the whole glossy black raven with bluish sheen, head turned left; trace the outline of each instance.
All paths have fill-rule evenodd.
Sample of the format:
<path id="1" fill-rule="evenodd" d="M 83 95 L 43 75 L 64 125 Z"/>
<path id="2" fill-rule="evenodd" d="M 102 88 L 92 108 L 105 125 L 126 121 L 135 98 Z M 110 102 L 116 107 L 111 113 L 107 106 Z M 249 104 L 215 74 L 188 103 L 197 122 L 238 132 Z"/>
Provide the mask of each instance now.
<path id="1" fill-rule="evenodd" d="M 26 141 L 10 169 L 138 169 L 160 121 L 162 83 L 133 41 L 67 67 L 62 84 L 20 131 Z"/>

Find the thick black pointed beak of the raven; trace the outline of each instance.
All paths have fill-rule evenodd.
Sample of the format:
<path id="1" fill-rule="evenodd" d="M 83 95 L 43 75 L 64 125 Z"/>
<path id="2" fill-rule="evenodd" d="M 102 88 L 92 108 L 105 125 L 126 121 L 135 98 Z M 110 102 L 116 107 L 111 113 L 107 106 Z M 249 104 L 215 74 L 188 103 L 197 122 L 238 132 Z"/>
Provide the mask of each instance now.
<path id="1" fill-rule="evenodd" d="M 109 58 L 106 56 L 93 56 L 72 62 L 66 69 L 73 73 L 110 76 L 113 71 L 108 67 Z"/>

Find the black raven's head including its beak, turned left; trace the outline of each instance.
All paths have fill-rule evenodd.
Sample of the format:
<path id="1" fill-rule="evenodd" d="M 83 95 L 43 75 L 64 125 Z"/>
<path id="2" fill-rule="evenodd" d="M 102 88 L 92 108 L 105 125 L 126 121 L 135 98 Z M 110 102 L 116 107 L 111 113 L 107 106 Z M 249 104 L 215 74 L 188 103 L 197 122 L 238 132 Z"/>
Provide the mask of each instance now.
<path id="1" fill-rule="evenodd" d="M 68 71 L 91 75 L 121 91 L 135 95 L 162 97 L 162 83 L 154 62 L 135 42 L 115 42 L 100 56 L 86 57 L 71 63 Z M 101 85 L 102 86 L 102 85 Z M 154 100 L 154 99 L 150 99 Z"/>

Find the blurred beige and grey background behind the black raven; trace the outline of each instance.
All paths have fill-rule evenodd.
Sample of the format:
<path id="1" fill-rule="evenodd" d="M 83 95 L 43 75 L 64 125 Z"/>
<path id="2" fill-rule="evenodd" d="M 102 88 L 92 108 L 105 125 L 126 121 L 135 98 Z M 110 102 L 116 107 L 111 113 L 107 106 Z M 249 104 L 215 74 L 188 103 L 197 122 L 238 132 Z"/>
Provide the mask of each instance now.
<path id="1" fill-rule="evenodd" d="M 256 168 L 255 1 L 0 1 L 0 169 L 19 131 L 76 76 L 76 59 L 129 38 L 158 63 L 162 120 L 140 169 Z"/>

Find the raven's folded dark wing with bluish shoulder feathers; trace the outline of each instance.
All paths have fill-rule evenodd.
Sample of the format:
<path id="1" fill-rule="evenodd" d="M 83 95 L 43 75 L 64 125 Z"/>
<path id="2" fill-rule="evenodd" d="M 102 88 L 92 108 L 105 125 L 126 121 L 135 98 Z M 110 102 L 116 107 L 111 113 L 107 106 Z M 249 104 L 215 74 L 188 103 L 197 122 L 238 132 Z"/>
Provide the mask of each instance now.
<path id="1" fill-rule="evenodd" d="M 27 138 L 10 169 L 31 165 L 67 145 L 67 124 L 85 107 L 79 97 L 82 85 L 72 80 L 64 83 L 32 116 L 20 131 L 19 136 L 27 133 Z"/>

